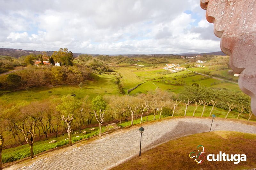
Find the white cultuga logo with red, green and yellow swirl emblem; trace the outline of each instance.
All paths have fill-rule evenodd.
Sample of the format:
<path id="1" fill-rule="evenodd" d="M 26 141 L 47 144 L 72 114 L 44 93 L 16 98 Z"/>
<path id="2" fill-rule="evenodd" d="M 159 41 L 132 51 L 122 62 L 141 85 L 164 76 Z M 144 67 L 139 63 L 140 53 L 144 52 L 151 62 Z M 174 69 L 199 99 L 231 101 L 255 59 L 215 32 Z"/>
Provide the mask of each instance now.
<path id="1" fill-rule="evenodd" d="M 190 152 L 189 158 L 194 159 L 197 164 L 201 164 L 204 162 L 205 156 L 204 156 L 204 146 L 199 145 L 196 147 L 198 149 L 198 152 Z M 234 164 L 239 164 L 240 161 L 246 161 L 246 155 L 245 154 L 225 154 L 225 152 L 221 152 L 217 155 L 215 154 L 208 154 L 206 159 L 208 161 L 234 161 Z"/>

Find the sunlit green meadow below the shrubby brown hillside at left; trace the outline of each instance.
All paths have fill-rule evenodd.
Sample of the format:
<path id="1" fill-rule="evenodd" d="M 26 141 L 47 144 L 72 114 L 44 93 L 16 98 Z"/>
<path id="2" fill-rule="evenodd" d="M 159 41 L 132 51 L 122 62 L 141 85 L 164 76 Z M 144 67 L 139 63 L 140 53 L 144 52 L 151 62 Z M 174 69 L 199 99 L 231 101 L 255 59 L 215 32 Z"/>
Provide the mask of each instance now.
<path id="1" fill-rule="evenodd" d="M 117 94 L 118 88 L 114 84 L 114 75 L 102 74 L 93 75 L 95 80 L 87 80 L 83 82 L 83 87 L 78 85 L 59 85 L 54 87 L 35 87 L 28 91 L 22 90 L 17 92 L 5 93 L 0 96 L 1 100 L 6 102 L 14 102 L 19 100 L 42 100 L 47 99 L 51 95 L 62 96 L 67 94 L 76 94 L 78 98 L 84 98 L 85 95 L 90 95 L 90 98 L 96 97 L 99 94 Z M 48 93 L 51 91 L 52 93 Z"/>

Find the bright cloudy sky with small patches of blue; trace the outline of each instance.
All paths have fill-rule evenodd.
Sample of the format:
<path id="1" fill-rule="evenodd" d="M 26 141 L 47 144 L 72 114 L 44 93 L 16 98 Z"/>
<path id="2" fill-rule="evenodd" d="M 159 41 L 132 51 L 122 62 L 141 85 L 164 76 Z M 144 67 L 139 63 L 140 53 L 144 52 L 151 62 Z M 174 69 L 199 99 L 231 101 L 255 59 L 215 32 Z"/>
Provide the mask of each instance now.
<path id="1" fill-rule="evenodd" d="M 0 48 L 86 54 L 220 50 L 200 0 L 0 0 Z"/>

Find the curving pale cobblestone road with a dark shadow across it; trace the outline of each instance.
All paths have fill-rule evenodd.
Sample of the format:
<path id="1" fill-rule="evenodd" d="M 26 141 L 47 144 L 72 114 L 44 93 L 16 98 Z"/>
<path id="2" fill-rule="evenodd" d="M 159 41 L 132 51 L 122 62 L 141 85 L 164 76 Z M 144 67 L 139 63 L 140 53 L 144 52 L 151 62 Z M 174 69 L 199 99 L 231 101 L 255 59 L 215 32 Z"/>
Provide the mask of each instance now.
<path id="1" fill-rule="evenodd" d="M 142 154 L 146 150 L 176 137 L 208 132 L 211 122 L 212 119 L 207 118 L 177 118 L 143 124 L 145 131 L 142 134 Z M 126 159 L 139 156 L 140 132 L 138 128 L 139 126 L 129 130 L 119 130 L 112 135 L 105 135 L 99 140 L 38 160 L 31 166 L 24 166 L 20 169 L 109 169 Z M 214 119 L 211 131 L 217 130 L 255 134 L 256 126 Z"/>

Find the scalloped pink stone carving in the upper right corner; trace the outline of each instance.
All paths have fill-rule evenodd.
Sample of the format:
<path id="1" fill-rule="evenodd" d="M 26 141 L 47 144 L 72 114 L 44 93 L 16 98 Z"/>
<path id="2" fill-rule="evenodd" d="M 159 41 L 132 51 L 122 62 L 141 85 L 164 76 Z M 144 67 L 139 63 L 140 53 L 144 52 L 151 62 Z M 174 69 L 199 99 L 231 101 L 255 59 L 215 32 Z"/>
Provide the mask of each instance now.
<path id="1" fill-rule="evenodd" d="M 239 75 L 240 89 L 251 96 L 256 115 L 256 2 L 255 0 L 201 0 L 206 19 L 221 38 L 221 50 L 230 56 L 230 67 Z"/>

